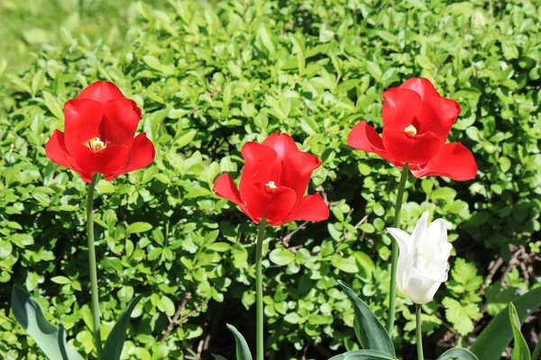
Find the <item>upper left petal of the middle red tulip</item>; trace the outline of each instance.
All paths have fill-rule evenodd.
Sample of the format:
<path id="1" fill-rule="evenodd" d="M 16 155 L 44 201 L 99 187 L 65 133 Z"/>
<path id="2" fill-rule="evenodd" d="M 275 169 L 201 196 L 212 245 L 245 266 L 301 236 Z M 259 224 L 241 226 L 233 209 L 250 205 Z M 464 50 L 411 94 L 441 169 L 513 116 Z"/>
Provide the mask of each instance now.
<path id="1" fill-rule="evenodd" d="M 257 142 L 243 146 L 244 169 L 240 188 L 244 183 L 280 183 L 280 166 L 277 166 L 276 151 Z"/>

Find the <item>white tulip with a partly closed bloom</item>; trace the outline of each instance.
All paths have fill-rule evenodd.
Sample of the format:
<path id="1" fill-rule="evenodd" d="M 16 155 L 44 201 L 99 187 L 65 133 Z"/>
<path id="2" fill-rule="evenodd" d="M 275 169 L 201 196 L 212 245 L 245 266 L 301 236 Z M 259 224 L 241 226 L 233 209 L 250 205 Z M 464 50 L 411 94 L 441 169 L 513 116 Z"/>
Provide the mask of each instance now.
<path id="1" fill-rule="evenodd" d="M 447 260 L 453 248 L 447 242 L 445 221 L 438 219 L 427 227 L 427 219 L 425 211 L 411 236 L 401 229 L 388 229 L 399 243 L 397 285 L 417 304 L 431 302 L 440 284 L 447 281 Z"/>

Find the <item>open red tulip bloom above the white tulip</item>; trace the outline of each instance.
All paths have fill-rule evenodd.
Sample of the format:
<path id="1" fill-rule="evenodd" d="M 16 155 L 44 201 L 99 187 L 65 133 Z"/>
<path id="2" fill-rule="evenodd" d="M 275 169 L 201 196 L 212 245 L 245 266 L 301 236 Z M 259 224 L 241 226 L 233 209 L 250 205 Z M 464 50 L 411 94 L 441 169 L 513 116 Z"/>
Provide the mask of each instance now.
<path id="1" fill-rule="evenodd" d="M 382 138 L 365 121 L 353 127 L 348 145 L 378 154 L 394 166 L 408 163 L 415 177 L 471 180 L 477 174 L 472 152 L 460 142 L 445 144 L 460 105 L 437 93 L 426 78 L 411 78 L 383 93 Z"/>

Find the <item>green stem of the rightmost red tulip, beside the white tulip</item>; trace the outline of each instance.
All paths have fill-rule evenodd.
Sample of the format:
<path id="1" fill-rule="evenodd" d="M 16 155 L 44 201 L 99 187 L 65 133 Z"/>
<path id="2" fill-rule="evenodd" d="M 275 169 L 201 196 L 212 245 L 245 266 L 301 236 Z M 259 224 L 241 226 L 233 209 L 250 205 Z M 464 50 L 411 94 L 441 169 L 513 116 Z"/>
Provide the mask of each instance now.
<path id="1" fill-rule="evenodd" d="M 397 193 L 397 202 L 395 205 L 395 221 L 394 227 L 400 228 L 400 211 L 402 211 L 402 199 L 404 198 L 404 188 L 408 180 L 409 166 L 408 163 L 402 167 L 400 175 L 399 193 Z M 392 338 L 392 329 L 394 327 L 395 308 L 397 302 L 397 263 L 399 262 L 399 244 L 392 241 L 392 255 L 390 263 L 390 292 L 389 292 L 389 320 L 387 322 L 387 332 Z"/>

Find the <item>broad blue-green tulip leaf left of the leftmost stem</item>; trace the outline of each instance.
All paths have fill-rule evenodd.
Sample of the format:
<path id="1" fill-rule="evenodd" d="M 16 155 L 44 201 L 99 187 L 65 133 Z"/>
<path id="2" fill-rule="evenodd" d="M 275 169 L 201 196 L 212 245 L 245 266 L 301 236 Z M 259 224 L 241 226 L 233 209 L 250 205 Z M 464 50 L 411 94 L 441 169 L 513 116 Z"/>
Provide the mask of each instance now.
<path id="1" fill-rule="evenodd" d="M 64 329 L 51 325 L 43 316 L 40 304 L 18 286 L 14 286 L 12 293 L 12 309 L 15 319 L 50 360 L 83 360 L 66 344 Z"/>

